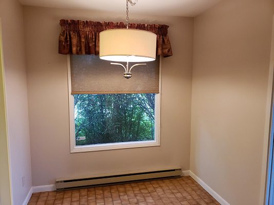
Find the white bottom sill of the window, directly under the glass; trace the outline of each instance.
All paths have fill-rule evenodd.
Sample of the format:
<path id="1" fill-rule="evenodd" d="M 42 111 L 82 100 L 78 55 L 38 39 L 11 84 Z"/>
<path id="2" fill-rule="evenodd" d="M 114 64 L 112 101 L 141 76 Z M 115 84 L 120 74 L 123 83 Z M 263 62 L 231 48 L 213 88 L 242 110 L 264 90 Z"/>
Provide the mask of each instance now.
<path id="1" fill-rule="evenodd" d="M 108 144 L 98 144 L 98 145 L 83 145 L 75 146 L 70 150 L 70 153 L 77 152 L 93 152 L 93 151 L 103 151 L 103 150 L 117 150 L 117 149 L 128 149 L 128 148 L 141 148 L 141 147 L 156 147 L 160 144 L 154 141 L 132 141 L 132 142 L 117 142 Z"/>

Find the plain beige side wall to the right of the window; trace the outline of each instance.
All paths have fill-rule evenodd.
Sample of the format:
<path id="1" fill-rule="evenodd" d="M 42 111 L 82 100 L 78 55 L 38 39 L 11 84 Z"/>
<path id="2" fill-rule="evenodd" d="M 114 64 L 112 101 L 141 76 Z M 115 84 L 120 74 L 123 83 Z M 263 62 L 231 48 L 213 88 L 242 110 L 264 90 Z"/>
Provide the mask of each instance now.
<path id="1" fill-rule="evenodd" d="M 273 6 L 225 0 L 194 19 L 190 169 L 233 205 L 262 204 Z"/>

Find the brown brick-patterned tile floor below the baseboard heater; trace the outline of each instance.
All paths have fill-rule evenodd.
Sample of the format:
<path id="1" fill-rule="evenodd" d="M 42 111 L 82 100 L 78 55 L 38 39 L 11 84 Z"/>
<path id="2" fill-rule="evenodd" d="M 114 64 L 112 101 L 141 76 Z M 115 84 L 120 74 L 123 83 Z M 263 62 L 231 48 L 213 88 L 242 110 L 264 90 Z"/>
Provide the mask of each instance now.
<path id="1" fill-rule="evenodd" d="M 28 205 L 162 205 L 218 203 L 190 176 L 123 185 L 33 193 Z"/>

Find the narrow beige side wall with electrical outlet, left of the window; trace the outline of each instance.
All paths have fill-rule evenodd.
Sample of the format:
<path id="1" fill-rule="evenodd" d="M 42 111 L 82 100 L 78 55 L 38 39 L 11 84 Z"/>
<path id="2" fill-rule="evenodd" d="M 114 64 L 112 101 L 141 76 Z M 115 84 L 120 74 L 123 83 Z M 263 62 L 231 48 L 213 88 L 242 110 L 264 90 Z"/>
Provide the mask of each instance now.
<path id="1" fill-rule="evenodd" d="M 23 7 L 16 0 L 1 0 L 0 18 L 3 30 L 13 204 L 21 205 L 31 188 Z"/>

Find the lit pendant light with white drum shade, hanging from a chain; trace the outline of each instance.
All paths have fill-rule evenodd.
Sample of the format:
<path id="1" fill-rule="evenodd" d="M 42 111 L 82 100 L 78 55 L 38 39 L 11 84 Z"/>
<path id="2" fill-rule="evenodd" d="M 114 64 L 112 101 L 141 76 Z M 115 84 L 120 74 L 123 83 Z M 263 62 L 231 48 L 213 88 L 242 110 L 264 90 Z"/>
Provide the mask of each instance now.
<path id="1" fill-rule="evenodd" d="M 129 3 L 134 6 L 137 3 L 126 0 L 126 29 L 109 29 L 100 32 L 100 58 L 103 60 L 126 62 L 124 77 L 132 77 L 131 69 L 135 66 L 146 64 L 135 64 L 129 69 L 129 62 L 153 61 L 156 58 L 156 39 L 155 33 L 129 29 Z"/>

